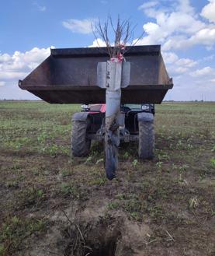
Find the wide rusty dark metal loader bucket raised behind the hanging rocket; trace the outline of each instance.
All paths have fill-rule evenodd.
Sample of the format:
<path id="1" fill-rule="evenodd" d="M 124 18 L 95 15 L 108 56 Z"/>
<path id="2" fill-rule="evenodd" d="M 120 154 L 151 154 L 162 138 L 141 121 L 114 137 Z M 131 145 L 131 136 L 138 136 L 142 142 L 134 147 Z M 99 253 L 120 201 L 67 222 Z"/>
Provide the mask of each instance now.
<path id="1" fill-rule="evenodd" d="M 127 47 L 130 82 L 122 89 L 121 103 L 161 103 L 172 79 L 168 77 L 160 45 Z M 105 103 L 99 88 L 98 62 L 107 61 L 106 47 L 51 49 L 50 56 L 19 87 L 49 103 Z"/>

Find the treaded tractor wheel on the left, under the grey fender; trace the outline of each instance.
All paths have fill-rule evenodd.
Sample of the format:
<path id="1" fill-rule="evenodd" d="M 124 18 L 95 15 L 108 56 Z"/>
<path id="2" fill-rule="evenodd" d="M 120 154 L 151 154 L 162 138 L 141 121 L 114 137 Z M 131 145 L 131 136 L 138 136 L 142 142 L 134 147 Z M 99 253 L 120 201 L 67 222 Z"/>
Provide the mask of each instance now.
<path id="1" fill-rule="evenodd" d="M 73 121 L 71 132 L 71 153 L 73 156 L 87 156 L 91 140 L 87 139 L 88 121 Z"/>

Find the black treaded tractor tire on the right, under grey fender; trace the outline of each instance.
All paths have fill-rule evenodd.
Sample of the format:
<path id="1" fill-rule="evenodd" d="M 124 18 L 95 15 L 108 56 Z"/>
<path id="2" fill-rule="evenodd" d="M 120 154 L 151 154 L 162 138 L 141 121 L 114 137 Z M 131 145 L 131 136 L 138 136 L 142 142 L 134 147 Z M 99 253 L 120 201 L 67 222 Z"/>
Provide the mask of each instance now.
<path id="1" fill-rule="evenodd" d="M 154 124 L 139 121 L 139 157 L 140 160 L 154 158 Z"/>

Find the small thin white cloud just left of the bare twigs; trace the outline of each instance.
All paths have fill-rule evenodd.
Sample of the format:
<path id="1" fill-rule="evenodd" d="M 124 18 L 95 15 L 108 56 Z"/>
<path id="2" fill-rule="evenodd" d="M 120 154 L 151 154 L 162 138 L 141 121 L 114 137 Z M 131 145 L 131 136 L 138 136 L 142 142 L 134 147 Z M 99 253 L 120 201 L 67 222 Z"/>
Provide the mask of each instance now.
<path id="1" fill-rule="evenodd" d="M 67 19 L 63 21 L 63 26 L 74 33 L 92 33 L 97 19 Z"/>

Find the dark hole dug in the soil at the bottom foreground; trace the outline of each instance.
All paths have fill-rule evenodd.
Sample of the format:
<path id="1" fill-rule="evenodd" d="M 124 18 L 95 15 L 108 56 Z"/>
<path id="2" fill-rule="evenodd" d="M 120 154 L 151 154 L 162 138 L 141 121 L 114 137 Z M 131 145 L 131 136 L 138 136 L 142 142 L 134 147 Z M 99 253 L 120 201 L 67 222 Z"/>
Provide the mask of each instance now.
<path id="1" fill-rule="evenodd" d="M 65 230 L 65 256 L 114 256 L 121 233 L 116 223 L 79 223 Z"/>

